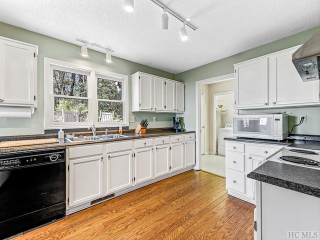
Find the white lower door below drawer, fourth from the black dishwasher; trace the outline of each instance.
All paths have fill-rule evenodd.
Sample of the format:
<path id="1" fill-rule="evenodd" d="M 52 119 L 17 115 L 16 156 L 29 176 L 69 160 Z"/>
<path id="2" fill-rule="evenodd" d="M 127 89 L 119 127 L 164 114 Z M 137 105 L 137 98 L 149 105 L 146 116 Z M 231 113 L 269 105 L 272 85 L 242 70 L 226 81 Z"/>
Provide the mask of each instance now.
<path id="1" fill-rule="evenodd" d="M 169 145 L 159 145 L 154 151 L 154 177 L 170 172 Z"/>

